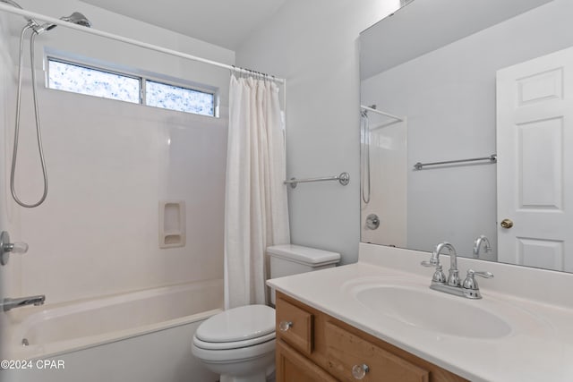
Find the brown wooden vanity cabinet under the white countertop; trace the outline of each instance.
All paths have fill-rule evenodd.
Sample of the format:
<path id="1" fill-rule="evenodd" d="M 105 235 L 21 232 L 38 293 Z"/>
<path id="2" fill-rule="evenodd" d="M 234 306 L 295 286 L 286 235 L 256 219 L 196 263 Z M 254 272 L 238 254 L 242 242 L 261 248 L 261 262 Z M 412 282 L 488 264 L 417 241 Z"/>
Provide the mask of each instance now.
<path id="1" fill-rule="evenodd" d="M 466 379 L 277 293 L 277 382 Z"/>

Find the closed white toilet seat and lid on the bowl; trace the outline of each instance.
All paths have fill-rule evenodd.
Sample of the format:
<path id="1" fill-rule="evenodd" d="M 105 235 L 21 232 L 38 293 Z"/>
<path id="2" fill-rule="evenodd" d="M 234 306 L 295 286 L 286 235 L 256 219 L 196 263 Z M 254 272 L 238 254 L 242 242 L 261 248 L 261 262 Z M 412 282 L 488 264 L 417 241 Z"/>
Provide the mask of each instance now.
<path id="1" fill-rule="evenodd" d="M 193 344 L 205 350 L 227 350 L 274 338 L 275 310 L 266 305 L 246 305 L 208 318 L 197 328 Z"/>

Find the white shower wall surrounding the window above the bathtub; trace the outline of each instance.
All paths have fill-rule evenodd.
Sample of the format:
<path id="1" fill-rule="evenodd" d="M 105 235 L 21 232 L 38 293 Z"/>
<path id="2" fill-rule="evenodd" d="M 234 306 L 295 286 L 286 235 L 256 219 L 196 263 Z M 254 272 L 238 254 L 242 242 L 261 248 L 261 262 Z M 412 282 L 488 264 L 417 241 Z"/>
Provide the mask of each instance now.
<path id="1" fill-rule="evenodd" d="M 21 5 L 54 17 L 80 11 L 99 30 L 228 64 L 235 61 L 234 52 L 227 49 L 78 1 L 22 0 Z M 10 16 L 12 52 L 23 22 L 20 16 Z M 228 72 L 63 27 L 38 36 L 37 41 L 38 104 L 49 194 L 45 204 L 31 209 L 17 207 L 6 197 L 8 211 L 2 216 L 9 218 L 13 239 L 30 244 L 28 254 L 10 265 L 11 293 L 46 294 L 47 303 L 57 303 L 222 278 Z M 138 68 L 160 78 L 212 85 L 221 95 L 221 118 L 45 89 L 45 49 L 58 55 L 72 53 L 95 64 L 115 63 L 120 69 Z M 25 72 L 29 65 L 27 60 Z M 13 66 L 8 75 L 15 70 Z M 12 90 L 10 98 L 15 97 Z M 16 184 L 21 199 L 30 201 L 41 194 L 42 181 L 29 74 L 22 99 Z M 3 145 L 8 153 L 13 118 L 2 129 L 10 142 Z M 10 163 L 7 155 L 4 171 Z M 3 196 L 6 190 L 4 186 Z M 158 248 L 158 202 L 166 199 L 186 202 L 183 248 Z"/>

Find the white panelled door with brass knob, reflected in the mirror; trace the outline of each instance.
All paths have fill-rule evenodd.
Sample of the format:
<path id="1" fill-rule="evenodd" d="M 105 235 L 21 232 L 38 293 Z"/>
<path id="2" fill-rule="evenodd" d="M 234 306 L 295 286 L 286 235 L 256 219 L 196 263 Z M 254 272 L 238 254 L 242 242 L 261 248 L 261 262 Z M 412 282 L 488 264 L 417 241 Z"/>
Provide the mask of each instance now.
<path id="1" fill-rule="evenodd" d="M 499 260 L 572 272 L 573 48 L 497 72 L 497 153 Z"/>

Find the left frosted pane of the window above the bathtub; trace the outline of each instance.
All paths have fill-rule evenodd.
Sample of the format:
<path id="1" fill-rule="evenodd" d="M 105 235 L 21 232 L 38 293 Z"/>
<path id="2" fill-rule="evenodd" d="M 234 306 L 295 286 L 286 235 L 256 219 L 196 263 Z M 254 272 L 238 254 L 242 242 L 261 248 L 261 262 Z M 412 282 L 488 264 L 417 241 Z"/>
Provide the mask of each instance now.
<path id="1" fill-rule="evenodd" d="M 140 79 L 49 60 L 50 89 L 140 103 Z"/>

